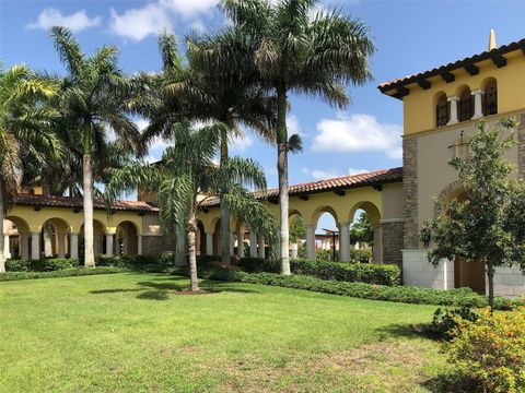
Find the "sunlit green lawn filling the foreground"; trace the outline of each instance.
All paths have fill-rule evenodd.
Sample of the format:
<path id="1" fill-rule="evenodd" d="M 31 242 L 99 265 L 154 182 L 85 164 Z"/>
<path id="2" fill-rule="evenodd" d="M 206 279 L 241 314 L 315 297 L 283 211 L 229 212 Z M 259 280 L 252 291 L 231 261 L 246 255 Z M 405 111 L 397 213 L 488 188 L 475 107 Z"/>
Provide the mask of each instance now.
<path id="1" fill-rule="evenodd" d="M 2 392 L 428 392 L 435 307 L 112 274 L 0 283 Z"/>

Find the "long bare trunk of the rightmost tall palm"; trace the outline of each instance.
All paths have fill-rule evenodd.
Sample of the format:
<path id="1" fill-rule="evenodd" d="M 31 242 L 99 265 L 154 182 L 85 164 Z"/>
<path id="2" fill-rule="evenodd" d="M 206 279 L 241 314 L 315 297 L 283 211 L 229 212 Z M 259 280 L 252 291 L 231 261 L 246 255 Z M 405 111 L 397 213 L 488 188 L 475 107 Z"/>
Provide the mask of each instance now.
<path id="1" fill-rule="evenodd" d="M 279 213 L 280 213 L 280 254 L 281 273 L 290 275 L 290 255 L 288 251 L 288 130 L 287 130 L 287 91 L 277 91 L 277 170 L 279 174 Z"/>

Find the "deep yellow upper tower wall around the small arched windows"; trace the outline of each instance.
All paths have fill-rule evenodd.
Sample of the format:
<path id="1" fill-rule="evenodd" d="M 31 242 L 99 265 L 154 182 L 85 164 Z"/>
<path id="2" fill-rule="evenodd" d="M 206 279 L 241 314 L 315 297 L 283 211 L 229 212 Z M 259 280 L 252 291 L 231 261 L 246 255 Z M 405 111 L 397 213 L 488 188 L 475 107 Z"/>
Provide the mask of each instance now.
<path id="1" fill-rule="evenodd" d="M 464 69 L 453 71 L 456 76 L 446 83 L 441 76 L 429 79 L 432 87 L 422 90 L 417 84 L 407 86 L 410 94 L 402 97 L 405 135 L 435 129 L 435 104 L 438 93 L 444 92 L 447 97 L 458 94 L 458 90 L 467 85 L 470 91 L 481 88 L 488 78 L 498 81 L 498 116 L 514 114 L 525 109 L 525 56 L 520 51 L 505 55 L 505 67 L 497 68 L 491 60 L 478 63 L 479 73 L 470 76 Z M 470 120 L 474 121 L 474 120 Z M 446 129 L 443 127 L 440 129 Z"/>

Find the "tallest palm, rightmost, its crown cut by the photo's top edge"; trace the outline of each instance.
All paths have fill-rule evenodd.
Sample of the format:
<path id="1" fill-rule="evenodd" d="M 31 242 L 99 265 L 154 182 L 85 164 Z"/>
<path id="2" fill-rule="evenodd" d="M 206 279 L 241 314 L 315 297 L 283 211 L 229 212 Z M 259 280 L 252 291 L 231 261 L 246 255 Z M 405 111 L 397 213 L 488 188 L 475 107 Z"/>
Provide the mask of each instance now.
<path id="1" fill-rule="evenodd" d="M 290 93 L 318 96 L 343 108 L 350 102 L 345 86 L 371 79 L 369 58 L 374 45 L 366 26 L 337 12 L 316 12 L 316 0 L 221 0 L 234 23 L 221 47 L 203 53 L 212 66 L 252 64 L 264 86 L 277 96 L 280 249 L 282 273 L 290 274 L 287 131 Z M 294 139 L 296 140 L 296 139 Z"/>

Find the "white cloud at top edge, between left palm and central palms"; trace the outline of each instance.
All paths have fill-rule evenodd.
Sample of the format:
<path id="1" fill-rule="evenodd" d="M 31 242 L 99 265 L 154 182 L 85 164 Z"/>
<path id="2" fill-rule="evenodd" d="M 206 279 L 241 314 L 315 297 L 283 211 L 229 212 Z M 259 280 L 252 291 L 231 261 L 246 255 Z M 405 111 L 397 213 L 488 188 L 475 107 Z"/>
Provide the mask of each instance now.
<path id="1" fill-rule="evenodd" d="M 159 3 L 150 3 L 142 8 L 130 9 L 121 15 L 112 9 L 109 31 L 121 37 L 139 41 L 162 29 L 173 32 L 170 15 Z"/>

